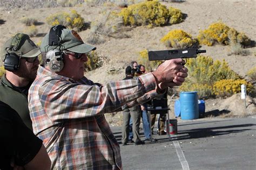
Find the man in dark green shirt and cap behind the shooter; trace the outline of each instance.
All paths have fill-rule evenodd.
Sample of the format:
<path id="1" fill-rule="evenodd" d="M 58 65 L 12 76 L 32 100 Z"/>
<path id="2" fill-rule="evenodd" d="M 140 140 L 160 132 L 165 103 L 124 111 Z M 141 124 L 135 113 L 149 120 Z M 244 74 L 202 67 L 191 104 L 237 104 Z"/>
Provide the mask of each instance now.
<path id="1" fill-rule="evenodd" d="M 0 83 L 0 101 L 16 110 L 31 130 L 28 90 L 37 74 L 39 54 L 39 47 L 23 33 L 7 40 L 1 54 L 6 74 L 2 76 Z"/>

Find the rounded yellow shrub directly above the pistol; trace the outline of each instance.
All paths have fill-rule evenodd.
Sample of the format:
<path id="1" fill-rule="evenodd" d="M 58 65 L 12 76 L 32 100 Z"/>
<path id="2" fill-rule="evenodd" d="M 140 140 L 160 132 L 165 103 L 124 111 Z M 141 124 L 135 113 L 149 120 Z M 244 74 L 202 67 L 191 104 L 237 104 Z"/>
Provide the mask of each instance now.
<path id="1" fill-rule="evenodd" d="M 183 30 L 172 30 L 167 33 L 161 41 L 164 42 L 167 47 L 178 49 L 192 47 L 197 43 L 197 40 L 192 39 L 191 35 Z"/>

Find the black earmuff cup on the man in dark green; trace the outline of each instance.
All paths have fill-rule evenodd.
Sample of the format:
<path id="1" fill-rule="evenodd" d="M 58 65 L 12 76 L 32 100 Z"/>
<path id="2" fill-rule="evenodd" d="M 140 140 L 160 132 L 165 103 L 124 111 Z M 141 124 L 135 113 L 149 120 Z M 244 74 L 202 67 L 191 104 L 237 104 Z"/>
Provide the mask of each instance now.
<path id="1" fill-rule="evenodd" d="M 19 56 L 15 53 L 8 53 L 5 55 L 4 59 L 4 69 L 13 72 L 19 69 Z"/>

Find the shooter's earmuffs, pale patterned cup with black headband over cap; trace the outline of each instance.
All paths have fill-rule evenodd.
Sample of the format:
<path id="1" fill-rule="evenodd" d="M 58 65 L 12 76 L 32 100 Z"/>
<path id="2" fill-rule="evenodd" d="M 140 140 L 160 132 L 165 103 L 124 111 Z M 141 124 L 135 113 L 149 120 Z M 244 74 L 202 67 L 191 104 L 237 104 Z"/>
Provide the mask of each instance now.
<path id="1" fill-rule="evenodd" d="M 46 63 L 53 72 L 60 72 L 64 67 L 63 52 L 58 49 L 60 46 L 62 30 L 66 29 L 63 25 L 51 27 L 49 32 L 49 46 L 56 46 L 46 54 Z"/>

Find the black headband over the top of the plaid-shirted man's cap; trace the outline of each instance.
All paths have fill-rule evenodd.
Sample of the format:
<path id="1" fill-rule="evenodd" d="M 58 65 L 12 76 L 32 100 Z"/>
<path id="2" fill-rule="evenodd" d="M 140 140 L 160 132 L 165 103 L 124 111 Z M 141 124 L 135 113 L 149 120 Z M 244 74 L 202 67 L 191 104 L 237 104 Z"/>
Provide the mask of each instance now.
<path id="1" fill-rule="evenodd" d="M 51 27 L 49 33 L 49 46 L 56 46 L 59 45 L 60 39 L 59 37 L 62 35 L 62 30 L 66 29 L 63 25 L 56 25 Z"/>

